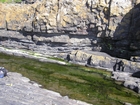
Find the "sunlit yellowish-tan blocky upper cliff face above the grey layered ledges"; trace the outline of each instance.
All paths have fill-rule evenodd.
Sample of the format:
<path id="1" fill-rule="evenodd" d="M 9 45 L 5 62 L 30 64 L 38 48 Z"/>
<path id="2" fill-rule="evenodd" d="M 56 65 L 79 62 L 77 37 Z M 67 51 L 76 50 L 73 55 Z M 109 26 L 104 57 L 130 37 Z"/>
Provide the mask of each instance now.
<path id="1" fill-rule="evenodd" d="M 131 0 L 44 0 L 34 4 L 1 4 L 0 27 L 27 32 L 67 32 L 113 36 L 133 8 Z"/>

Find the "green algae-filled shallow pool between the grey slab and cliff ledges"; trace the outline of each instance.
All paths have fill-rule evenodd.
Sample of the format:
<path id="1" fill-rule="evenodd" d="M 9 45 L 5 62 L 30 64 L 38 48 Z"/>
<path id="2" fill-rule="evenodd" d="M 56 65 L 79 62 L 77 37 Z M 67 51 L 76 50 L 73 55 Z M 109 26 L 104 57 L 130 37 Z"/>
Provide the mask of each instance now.
<path id="1" fill-rule="evenodd" d="M 0 65 L 70 98 L 96 105 L 139 105 L 140 96 L 110 79 L 111 73 L 78 65 L 59 65 L 0 54 Z"/>

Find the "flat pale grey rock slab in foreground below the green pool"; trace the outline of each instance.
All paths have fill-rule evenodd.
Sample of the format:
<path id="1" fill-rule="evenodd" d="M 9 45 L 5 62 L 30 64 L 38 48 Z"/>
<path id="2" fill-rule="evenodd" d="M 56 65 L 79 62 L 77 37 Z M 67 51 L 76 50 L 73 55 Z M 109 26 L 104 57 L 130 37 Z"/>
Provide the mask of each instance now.
<path id="1" fill-rule="evenodd" d="M 40 88 L 39 84 L 14 72 L 0 78 L 0 94 L 0 105 L 90 105 Z"/>

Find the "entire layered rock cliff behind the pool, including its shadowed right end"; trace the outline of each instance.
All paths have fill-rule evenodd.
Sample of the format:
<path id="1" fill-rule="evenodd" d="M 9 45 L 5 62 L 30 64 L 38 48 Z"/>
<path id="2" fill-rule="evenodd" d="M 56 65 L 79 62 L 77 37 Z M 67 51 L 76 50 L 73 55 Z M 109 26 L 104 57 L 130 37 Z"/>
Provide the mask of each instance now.
<path id="1" fill-rule="evenodd" d="M 42 0 L 0 4 L 1 45 L 44 53 L 139 56 L 140 0 Z"/>

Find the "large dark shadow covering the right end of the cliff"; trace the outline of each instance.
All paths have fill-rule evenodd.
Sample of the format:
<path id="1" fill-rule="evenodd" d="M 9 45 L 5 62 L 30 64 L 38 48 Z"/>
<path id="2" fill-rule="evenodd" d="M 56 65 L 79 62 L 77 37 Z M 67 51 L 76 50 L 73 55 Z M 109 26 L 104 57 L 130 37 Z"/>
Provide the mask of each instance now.
<path id="1" fill-rule="evenodd" d="M 104 38 L 103 52 L 129 59 L 140 55 L 140 4 L 135 5 L 118 24 L 113 37 Z"/>

